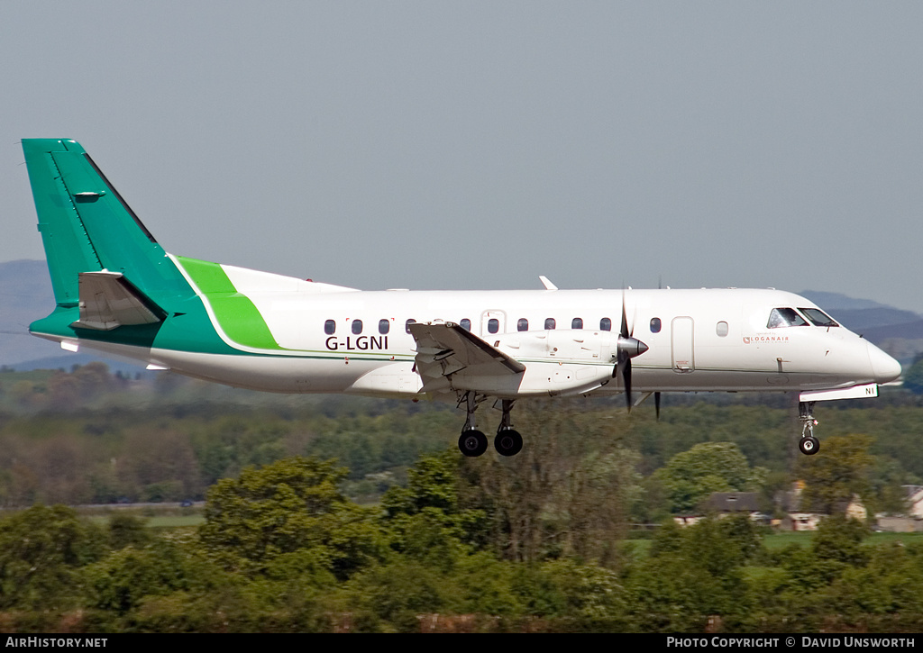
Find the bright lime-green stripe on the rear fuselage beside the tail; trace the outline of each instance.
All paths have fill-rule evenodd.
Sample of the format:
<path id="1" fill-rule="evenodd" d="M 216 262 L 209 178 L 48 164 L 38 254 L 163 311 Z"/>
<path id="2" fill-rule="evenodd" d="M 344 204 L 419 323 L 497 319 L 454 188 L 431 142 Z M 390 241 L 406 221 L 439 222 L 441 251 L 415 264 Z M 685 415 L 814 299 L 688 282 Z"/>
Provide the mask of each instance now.
<path id="1" fill-rule="evenodd" d="M 217 263 L 176 256 L 186 274 L 209 303 L 211 312 L 224 334 L 243 347 L 259 350 L 282 350 L 270 327 L 250 298 L 234 288 Z"/>

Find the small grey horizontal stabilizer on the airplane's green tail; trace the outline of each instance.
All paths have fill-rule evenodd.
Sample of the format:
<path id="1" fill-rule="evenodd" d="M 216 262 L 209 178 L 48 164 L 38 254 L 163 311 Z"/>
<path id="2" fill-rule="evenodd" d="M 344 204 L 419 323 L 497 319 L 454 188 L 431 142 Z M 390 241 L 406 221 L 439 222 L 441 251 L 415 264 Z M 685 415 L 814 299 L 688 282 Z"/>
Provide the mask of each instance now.
<path id="1" fill-rule="evenodd" d="M 80 272 L 80 319 L 71 326 L 111 331 L 162 322 L 166 313 L 120 272 Z"/>

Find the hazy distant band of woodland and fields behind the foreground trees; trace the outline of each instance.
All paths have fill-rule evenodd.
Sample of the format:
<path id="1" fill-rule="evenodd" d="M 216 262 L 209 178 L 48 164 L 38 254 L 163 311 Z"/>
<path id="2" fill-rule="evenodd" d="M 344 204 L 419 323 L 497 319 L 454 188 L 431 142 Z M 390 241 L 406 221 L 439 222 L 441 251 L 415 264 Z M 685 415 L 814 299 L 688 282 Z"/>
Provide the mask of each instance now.
<path id="1" fill-rule="evenodd" d="M 52 400 L 61 396 L 76 403 Z M 732 490 L 760 493 L 771 514 L 796 480 L 810 481 L 809 501 L 819 506 L 855 493 L 873 511 L 898 513 L 901 486 L 923 483 L 923 411 L 909 392 L 823 406 L 815 457 L 797 453 L 792 398 L 706 397 L 668 398 L 659 421 L 649 407 L 628 414 L 617 400 L 521 402 L 514 418 L 527 445 L 519 458 L 544 472 L 521 480 L 522 491 L 544 497 L 618 475 L 627 521 L 659 523 Z M 102 363 L 5 373 L 0 506 L 201 500 L 247 466 L 297 455 L 339 460 L 349 469 L 344 493 L 377 502 L 406 483 L 421 455 L 454 448 L 459 424 L 451 406 L 425 401 L 280 397 L 172 374 L 139 381 Z M 565 478 L 560 469 L 570 465 L 577 471 Z M 516 519 L 533 519 L 528 505 Z"/>

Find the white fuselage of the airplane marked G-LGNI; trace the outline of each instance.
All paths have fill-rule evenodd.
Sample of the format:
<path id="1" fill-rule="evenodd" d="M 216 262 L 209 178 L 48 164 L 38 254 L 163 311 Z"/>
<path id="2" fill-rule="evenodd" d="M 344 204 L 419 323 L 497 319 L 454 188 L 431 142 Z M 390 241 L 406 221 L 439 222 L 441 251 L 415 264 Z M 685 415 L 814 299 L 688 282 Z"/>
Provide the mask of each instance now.
<path id="1" fill-rule="evenodd" d="M 245 273 L 240 270 L 238 279 Z M 249 355 L 102 348 L 181 374 L 272 392 L 404 398 L 467 389 L 503 398 L 613 394 L 624 390 L 613 374 L 624 303 L 629 333 L 649 348 L 632 361 L 634 391 L 823 390 L 884 383 L 900 374 L 896 361 L 843 326 L 768 326 L 773 309 L 816 308 L 784 291 L 318 291 L 308 282 L 270 291 L 237 285 L 265 319 L 278 350 L 235 343 L 213 315 L 222 338 Z M 552 328 L 546 328 L 549 319 Z M 408 321 L 470 324 L 473 334 L 526 371 L 462 381 L 459 374 L 424 388 Z"/>

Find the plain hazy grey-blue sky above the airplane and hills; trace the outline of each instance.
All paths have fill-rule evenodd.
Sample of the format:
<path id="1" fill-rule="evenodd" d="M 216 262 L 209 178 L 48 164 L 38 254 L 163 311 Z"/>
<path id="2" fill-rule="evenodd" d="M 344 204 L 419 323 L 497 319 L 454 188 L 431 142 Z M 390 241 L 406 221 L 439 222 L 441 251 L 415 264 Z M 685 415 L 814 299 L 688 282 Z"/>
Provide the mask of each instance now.
<path id="1" fill-rule="evenodd" d="M 367 289 L 775 287 L 923 312 L 923 5 L 4 2 L 21 137 L 170 252 Z"/>

